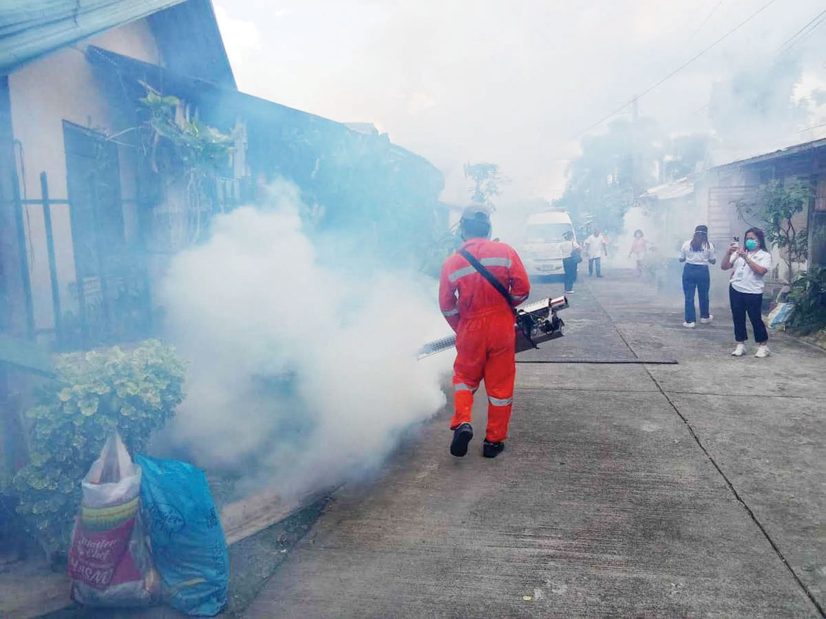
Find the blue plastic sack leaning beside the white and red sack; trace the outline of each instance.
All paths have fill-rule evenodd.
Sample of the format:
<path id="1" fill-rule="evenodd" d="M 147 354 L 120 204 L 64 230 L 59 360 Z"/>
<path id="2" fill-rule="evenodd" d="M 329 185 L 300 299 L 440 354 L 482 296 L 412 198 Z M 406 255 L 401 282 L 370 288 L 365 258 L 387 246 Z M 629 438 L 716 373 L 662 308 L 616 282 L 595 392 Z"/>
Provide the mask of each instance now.
<path id="1" fill-rule="evenodd" d="M 164 598 L 188 615 L 213 616 L 227 602 L 230 554 L 207 477 L 186 462 L 140 454 L 140 512 L 149 528 Z"/>

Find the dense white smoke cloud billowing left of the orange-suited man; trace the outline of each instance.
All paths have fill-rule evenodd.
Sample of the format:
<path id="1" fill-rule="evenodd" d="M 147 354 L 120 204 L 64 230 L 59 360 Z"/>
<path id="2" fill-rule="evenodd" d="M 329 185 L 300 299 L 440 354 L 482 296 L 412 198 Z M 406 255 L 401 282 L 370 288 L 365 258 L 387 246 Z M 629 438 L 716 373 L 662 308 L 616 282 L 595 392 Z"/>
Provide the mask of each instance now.
<path id="1" fill-rule="evenodd" d="M 271 207 L 217 217 L 211 240 L 173 258 L 161 286 L 169 339 L 192 364 L 171 442 L 284 493 L 381 463 L 444 405 L 452 361 L 416 361 L 448 329 L 436 282 L 320 264 L 300 209 L 282 183 Z"/>

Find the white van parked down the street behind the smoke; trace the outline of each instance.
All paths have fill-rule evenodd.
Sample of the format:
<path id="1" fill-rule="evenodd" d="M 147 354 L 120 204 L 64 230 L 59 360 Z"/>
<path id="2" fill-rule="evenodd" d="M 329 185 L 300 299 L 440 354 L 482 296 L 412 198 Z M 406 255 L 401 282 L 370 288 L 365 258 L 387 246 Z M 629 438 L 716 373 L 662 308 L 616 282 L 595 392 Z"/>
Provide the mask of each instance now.
<path id="1" fill-rule="evenodd" d="M 563 237 L 570 232 L 574 242 L 577 240 L 571 215 L 564 210 L 530 215 L 527 232 L 522 260 L 528 274 L 564 275 L 563 258 L 571 255 L 571 243 Z"/>

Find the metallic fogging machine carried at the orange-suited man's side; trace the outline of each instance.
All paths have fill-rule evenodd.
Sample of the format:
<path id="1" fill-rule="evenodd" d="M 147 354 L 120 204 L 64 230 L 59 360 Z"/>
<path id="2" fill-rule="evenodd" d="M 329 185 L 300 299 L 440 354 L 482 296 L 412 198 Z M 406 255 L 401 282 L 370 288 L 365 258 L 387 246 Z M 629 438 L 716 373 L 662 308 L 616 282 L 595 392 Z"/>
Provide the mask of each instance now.
<path id="1" fill-rule="evenodd" d="M 559 318 L 557 312 L 560 309 L 567 308 L 567 306 L 567 298 L 558 296 L 555 299 L 543 299 L 516 309 L 514 314 L 516 352 L 539 348 L 541 343 L 562 338 L 565 334 L 565 323 L 563 323 L 563 319 Z M 454 333 L 447 338 L 426 343 L 419 351 L 419 358 L 430 357 L 430 355 L 449 350 L 455 346 L 456 334 Z"/>

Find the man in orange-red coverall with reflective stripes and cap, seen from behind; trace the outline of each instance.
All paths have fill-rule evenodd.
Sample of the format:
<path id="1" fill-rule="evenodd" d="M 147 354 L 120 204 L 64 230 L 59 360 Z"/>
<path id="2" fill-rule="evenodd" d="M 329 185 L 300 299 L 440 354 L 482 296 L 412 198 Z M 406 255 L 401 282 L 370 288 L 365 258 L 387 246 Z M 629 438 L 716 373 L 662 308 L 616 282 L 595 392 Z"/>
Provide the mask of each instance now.
<path id="1" fill-rule="evenodd" d="M 482 263 L 510 293 L 510 303 L 461 253 L 444 261 L 439 278 L 439 306 L 456 332 L 453 389 L 456 413 L 450 421 L 450 453 L 464 456 L 473 437 L 473 394 L 485 379 L 487 432 L 482 455 L 495 458 L 505 448 L 513 404 L 515 319 L 513 307 L 528 299 L 530 283 L 513 248 L 491 238 L 491 215 L 486 206 L 468 206 L 460 223 L 462 250 Z M 457 297 L 458 294 L 458 297 Z"/>

